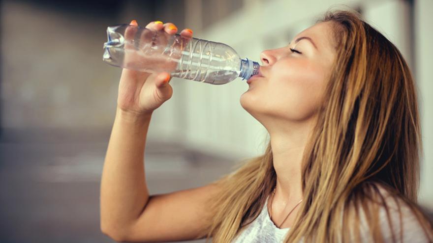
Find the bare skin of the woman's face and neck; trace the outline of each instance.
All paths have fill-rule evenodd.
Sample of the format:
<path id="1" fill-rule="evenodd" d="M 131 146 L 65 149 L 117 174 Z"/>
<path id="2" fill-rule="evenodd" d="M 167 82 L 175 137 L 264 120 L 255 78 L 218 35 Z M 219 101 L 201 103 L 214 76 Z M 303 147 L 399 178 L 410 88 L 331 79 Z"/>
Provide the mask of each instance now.
<path id="1" fill-rule="evenodd" d="M 270 134 L 277 189 L 268 209 L 272 207 L 276 225 L 302 199 L 301 160 L 336 55 L 330 33 L 331 23 L 319 23 L 296 35 L 288 46 L 263 51 L 263 77 L 251 79 L 240 98 L 242 107 Z M 307 39 L 295 43 L 303 36 L 310 37 L 317 49 Z M 279 228 L 292 225 L 297 209 Z"/>

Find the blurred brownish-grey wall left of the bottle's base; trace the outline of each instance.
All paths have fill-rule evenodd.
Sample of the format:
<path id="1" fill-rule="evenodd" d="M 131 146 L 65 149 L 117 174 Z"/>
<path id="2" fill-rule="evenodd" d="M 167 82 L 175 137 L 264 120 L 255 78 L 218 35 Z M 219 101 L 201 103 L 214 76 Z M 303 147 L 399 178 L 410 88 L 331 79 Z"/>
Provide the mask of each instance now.
<path id="1" fill-rule="evenodd" d="M 119 70 L 101 62 L 101 43 L 110 15 L 117 22 L 119 13 L 71 8 L 2 1 L 3 129 L 110 126 Z"/>

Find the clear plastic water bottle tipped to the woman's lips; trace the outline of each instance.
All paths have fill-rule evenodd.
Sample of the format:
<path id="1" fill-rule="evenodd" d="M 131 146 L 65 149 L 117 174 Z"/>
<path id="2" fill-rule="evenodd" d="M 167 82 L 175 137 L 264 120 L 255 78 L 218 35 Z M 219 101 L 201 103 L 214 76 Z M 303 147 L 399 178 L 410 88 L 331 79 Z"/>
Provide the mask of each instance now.
<path id="1" fill-rule="evenodd" d="M 171 35 L 163 29 L 123 24 L 107 27 L 107 36 L 103 60 L 127 69 L 224 84 L 238 77 L 248 80 L 260 67 L 223 43 Z"/>

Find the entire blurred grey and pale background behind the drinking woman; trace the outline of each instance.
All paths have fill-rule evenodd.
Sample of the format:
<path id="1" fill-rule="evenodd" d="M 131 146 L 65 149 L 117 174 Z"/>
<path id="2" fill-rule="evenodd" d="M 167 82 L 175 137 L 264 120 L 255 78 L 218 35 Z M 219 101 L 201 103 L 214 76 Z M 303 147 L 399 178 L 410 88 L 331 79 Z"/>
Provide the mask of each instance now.
<path id="1" fill-rule="evenodd" d="M 102 61 L 107 26 L 172 22 L 259 61 L 263 50 L 287 45 L 339 6 L 356 9 L 395 43 L 415 76 L 425 147 L 419 203 L 432 212 L 432 0 L 2 0 L 0 242 L 113 242 L 99 228 L 121 74 Z M 239 103 L 245 81 L 170 83 L 173 96 L 154 112 L 148 133 L 151 194 L 204 186 L 263 153 L 267 131 Z"/>

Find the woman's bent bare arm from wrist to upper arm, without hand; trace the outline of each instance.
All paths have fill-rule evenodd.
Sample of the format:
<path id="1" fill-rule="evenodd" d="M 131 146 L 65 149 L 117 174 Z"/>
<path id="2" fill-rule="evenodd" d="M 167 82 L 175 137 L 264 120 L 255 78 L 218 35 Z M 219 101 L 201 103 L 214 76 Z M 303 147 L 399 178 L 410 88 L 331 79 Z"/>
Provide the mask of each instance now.
<path id="1" fill-rule="evenodd" d="M 150 120 L 117 109 L 101 179 L 101 231 L 118 242 L 198 239 L 212 223 L 207 202 L 219 186 L 149 196 L 143 161 Z"/>

